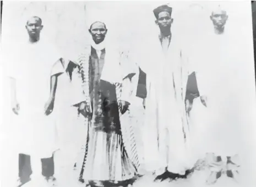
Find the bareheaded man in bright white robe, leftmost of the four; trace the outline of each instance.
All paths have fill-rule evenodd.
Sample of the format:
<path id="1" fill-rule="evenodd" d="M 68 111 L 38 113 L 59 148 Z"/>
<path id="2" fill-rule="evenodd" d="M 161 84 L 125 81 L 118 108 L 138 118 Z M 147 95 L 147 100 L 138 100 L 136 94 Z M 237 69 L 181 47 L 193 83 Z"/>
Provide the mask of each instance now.
<path id="1" fill-rule="evenodd" d="M 10 124 L 15 129 L 17 156 L 19 153 L 31 156 L 32 181 L 28 185 L 55 180 L 43 178 L 41 159 L 52 157 L 57 149 L 53 112 L 55 89 L 51 86 L 50 75 L 61 55 L 52 43 L 40 40 L 42 28 L 41 18 L 31 17 L 26 23 L 29 40 L 4 53 L 13 111 Z M 63 69 L 55 73 L 62 74 Z"/>

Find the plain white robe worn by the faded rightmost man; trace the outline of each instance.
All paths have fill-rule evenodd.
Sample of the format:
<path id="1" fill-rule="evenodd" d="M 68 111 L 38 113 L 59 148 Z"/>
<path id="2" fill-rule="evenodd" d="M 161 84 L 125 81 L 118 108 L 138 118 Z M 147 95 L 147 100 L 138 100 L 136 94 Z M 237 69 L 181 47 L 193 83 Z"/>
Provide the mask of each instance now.
<path id="1" fill-rule="evenodd" d="M 241 148 L 242 81 L 239 65 L 242 54 L 237 37 L 225 30 L 224 34 L 212 32 L 204 40 L 198 55 L 197 83 L 201 96 L 207 97 L 207 107 L 200 99 L 194 101 L 191 112 L 194 151 L 199 157 L 205 153 L 233 156 Z M 199 139 L 200 137 L 200 139 Z M 240 137 L 240 138 L 239 138 Z M 203 140 L 203 141 L 202 141 Z"/>

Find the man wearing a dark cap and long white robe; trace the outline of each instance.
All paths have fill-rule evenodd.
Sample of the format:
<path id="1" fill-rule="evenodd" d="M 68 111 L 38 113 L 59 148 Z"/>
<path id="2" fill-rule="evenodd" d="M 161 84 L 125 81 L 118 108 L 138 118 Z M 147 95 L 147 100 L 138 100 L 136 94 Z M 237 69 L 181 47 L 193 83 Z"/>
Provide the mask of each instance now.
<path id="1" fill-rule="evenodd" d="M 193 100 L 185 102 L 188 75 L 192 72 L 186 52 L 171 33 L 172 8 L 161 5 L 154 9 L 154 15 L 160 34 L 150 36 L 145 46 L 140 46 L 147 86 L 144 167 L 156 173 L 156 180 L 186 178 L 193 167 L 187 121 Z"/>

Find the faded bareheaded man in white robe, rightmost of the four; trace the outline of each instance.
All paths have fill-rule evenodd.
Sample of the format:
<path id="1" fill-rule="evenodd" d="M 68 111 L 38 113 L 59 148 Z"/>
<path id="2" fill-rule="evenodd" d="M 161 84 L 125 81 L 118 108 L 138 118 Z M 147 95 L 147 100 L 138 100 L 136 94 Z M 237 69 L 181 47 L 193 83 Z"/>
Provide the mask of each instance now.
<path id="1" fill-rule="evenodd" d="M 200 125 L 198 133 L 194 135 L 195 138 L 199 134 L 201 136 L 199 157 L 206 153 L 209 155 L 210 177 L 207 182 L 215 183 L 224 174 L 231 178 L 238 174 L 237 154 L 241 147 L 239 126 L 242 122 L 237 67 L 241 52 L 238 50 L 237 35 L 226 26 L 226 10 L 217 7 L 211 13 L 210 20 L 213 30 L 202 40 L 207 44 L 200 49 L 200 64 L 197 65 L 199 93 L 206 102 L 194 105 L 192 116 L 193 123 Z M 238 46 L 232 45 L 235 40 Z"/>

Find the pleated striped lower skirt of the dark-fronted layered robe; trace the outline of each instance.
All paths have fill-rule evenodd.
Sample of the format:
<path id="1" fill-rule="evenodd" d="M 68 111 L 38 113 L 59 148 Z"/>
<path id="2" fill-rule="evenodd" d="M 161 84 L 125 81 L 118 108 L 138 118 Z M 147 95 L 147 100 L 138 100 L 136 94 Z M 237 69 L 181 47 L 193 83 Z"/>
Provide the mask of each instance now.
<path id="1" fill-rule="evenodd" d="M 124 149 L 122 137 L 90 128 L 90 141 L 83 179 L 86 181 L 123 181 L 136 172 Z"/>

